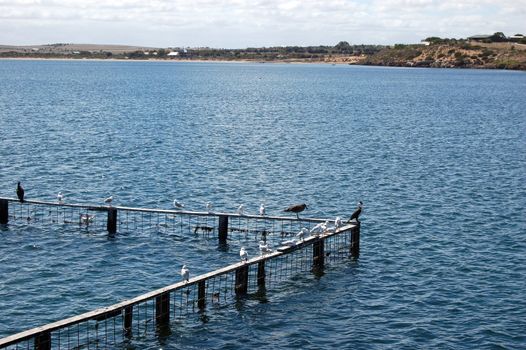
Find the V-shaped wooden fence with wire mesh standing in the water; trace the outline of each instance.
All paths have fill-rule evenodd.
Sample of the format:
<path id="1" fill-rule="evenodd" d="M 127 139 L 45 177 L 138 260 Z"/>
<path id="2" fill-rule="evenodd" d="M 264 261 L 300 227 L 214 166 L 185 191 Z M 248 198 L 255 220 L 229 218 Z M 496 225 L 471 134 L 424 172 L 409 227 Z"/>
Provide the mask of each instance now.
<path id="1" fill-rule="evenodd" d="M 204 312 L 214 305 L 234 304 L 252 293 L 265 293 L 290 277 L 318 273 L 327 265 L 359 255 L 360 223 L 325 227 L 315 234 L 295 238 L 303 228 L 312 230 L 334 220 L 224 212 L 194 212 L 89 206 L 0 198 L 0 224 L 74 225 L 82 230 L 118 234 L 156 230 L 176 235 L 199 234 L 218 244 L 238 235 L 254 236 L 273 247 L 248 261 L 153 290 L 120 303 L 102 307 L 0 339 L 0 349 L 70 349 L 118 347 L 134 337 L 163 333 L 174 321 Z M 318 225 L 320 226 L 320 225 Z M 204 263 L 204 262 L 203 262 Z"/>

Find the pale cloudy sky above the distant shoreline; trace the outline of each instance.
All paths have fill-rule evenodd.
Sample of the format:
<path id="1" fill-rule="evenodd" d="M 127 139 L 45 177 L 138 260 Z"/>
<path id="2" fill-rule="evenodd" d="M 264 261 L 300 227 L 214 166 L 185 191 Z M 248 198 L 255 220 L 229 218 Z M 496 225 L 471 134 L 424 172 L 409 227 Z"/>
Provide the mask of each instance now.
<path id="1" fill-rule="evenodd" d="M 526 0 L 0 0 L 0 45 L 418 43 L 526 35 Z"/>

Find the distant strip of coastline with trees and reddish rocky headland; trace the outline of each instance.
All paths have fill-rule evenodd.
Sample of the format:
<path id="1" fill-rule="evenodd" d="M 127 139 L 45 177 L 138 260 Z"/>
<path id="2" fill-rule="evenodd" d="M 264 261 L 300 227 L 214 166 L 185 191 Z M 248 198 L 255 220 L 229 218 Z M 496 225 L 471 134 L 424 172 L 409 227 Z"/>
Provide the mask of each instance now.
<path id="1" fill-rule="evenodd" d="M 526 70 L 526 44 L 433 39 L 425 44 L 284 46 L 246 49 L 152 48 L 125 45 L 51 44 L 1 46 L 4 58 L 209 60 L 333 63 L 397 67 L 497 68 Z"/>

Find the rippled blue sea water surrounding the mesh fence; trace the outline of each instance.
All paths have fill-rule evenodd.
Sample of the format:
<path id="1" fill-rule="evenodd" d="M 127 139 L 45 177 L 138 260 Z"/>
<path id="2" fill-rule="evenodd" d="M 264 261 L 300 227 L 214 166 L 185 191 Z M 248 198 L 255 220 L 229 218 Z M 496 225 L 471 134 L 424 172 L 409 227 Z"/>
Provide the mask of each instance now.
<path id="1" fill-rule="evenodd" d="M 364 201 L 357 261 L 136 348 L 523 349 L 525 100 L 526 74 L 497 70 L 3 60 L 0 196 L 20 180 L 34 199 L 313 217 Z M 2 228 L 0 337 L 224 265 L 185 244 L 217 250 Z"/>

